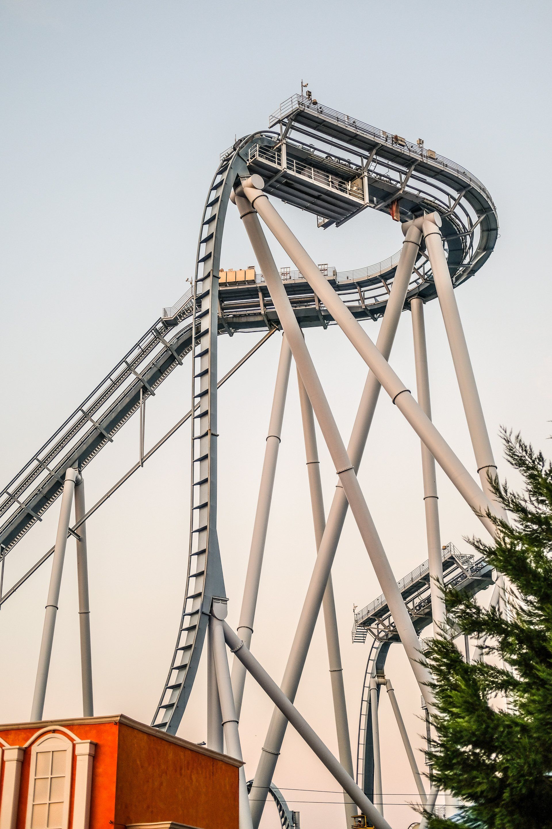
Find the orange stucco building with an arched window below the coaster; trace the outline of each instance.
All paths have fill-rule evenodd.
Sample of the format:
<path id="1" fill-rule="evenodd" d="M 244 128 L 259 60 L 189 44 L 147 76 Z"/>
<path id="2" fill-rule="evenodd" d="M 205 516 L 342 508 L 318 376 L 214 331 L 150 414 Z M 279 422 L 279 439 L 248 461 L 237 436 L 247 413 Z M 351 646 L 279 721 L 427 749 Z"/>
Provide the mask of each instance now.
<path id="1" fill-rule="evenodd" d="M 0 753 L 0 829 L 238 829 L 242 764 L 124 715 L 0 725 Z"/>

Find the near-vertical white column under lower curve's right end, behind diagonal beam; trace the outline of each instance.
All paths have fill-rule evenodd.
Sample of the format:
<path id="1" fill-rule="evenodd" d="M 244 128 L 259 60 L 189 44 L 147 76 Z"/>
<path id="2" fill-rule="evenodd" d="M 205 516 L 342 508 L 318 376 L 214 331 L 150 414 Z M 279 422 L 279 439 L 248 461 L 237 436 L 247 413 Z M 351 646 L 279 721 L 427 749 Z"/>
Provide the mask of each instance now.
<path id="1" fill-rule="evenodd" d="M 425 342 L 424 303 L 420 297 L 410 300 L 412 333 L 414 336 L 414 360 L 416 369 L 416 396 L 418 404 L 431 419 L 430 374 L 427 363 Z M 427 554 L 430 563 L 431 615 L 433 634 L 439 636 L 446 622 L 443 584 L 443 558 L 441 555 L 441 533 L 439 529 L 439 497 L 435 477 L 435 459 L 425 443 L 421 442 L 422 475 L 424 479 L 425 532 Z"/>

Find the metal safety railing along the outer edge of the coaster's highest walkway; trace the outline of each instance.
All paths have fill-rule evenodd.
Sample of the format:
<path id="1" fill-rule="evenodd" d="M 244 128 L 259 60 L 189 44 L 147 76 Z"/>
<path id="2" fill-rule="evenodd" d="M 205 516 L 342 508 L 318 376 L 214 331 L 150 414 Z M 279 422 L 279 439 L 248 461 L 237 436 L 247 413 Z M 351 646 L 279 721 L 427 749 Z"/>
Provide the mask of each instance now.
<path id="1" fill-rule="evenodd" d="M 465 167 L 451 161 L 450 158 L 439 155 L 439 153 L 427 150 L 417 143 L 406 141 L 406 138 L 386 133 L 382 129 L 372 127 L 371 124 L 365 124 L 363 121 L 351 118 L 350 115 L 338 112 L 337 109 L 331 109 L 323 104 L 313 104 L 312 99 L 307 98 L 306 95 L 292 95 L 280 104 L 278 109 L 271 114 L 268 122 L 269 126 L 272 127 L 282 119 L 288 118 L 296 109 L 310 110 L 313 113 L 324 116 L 325 119 L 334 121 L 336 124 L 343 124 L 344 127 L 354 129 L 358 133 L 374 138 L 378 143 L 391 144 L 397 149 L 408 150 L 411 155 L 415 155 L 418 158 L 423 159 L 425 162 L 429 162 L 430 164 L 434 164 L 436 167 L 442 167 L 443 169 L 449 169 L 452 172 L 457 173 L 458 176 L 462 177 L 473 187 L 476 187 L 479 191 L 481 191 L 487 198 L 487 201 L 492 206 L 493 210 L 496 210 L 494 202 L 492 201 L 492 196 L 487 190 L 487 187 L 485 187 L 485 185 L 480 182 L 477 177 L 473 176 L 473 174 Z"/>

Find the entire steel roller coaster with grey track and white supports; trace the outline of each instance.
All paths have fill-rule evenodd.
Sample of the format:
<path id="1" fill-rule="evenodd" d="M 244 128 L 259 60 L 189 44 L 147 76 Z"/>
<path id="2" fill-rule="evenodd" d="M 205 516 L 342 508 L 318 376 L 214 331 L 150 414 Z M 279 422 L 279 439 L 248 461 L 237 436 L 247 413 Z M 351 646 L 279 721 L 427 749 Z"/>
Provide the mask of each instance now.
<path id="1" fill-rule="evenodd" d="M 277 199 L 313 214 L 321 230 L 332 225 L 338 228 L 367 209 L 379 211 L 401 226 L 405 241 L 401 250 L 385 261 L 358 269 L 339 271 L 328 264 L 315 264 L 277 213 L 272 204 Z M 220 251 L 228 209 L 238 210 L 257 260 L 256 266 L 242 271 L 221 268 Z M 276 268 L 260 219 L 286 250 L 295 269 Z M 180 426 L 190 421 L 188 570 L 175 650 L 151 724 L 158 730 L 175 734 L 207 642 L 210 747 L 225 749 L 228 754 L 241 759 L 238 721 L 247 672 L 275 703 L 254 780 L 246 783 L 242 772 L 241 829 L 257 829 L 269 793 L 278 807 L 283 829 L 291 829 L 293 825 L 292 813 L 272 783 L 288 722 L 299 731 L 343 788 L 348 825 L 355 820 L 358 822 L 360 812 L 377 829 L 389 827 L 383 816 L 377 736 L 380 689 L 386 686 L 390 696 L 393 691 L 384 673 L 386 653 L 392 642 L 399 642 L 404 647 L 425 700 L 430 729 L 433 700 L 427 686 L 429 673 L 423 658 L 423 642 L 420 643 L 418 637 L 430 623 L 434 624 L 435 635 L 439 635 L 439 629 L 446 624 L 439 583 L 454 583 L 459 589 L 473 594 L 495 581 L 492 601 L 499 601 L 500 575 L 493 574 L 484 561 L 459 554 L 454 545 L 442 547 L 435 483 L 437 462 L 460 496 L 482 516 L 483 524 L 492 534 L 492 523 L 485 513 L 487 509 L 494 513 L 498 511 L 489 483 L 489 472 L 492 473 L 496 465 L 454 290 L 485 264 L 492 254 L 497 235 L 497 211 L 492 197 L 482 182 L 466 169 L 425 148 L 420 139 L 410 142 L 397 134 L 364 124 L 319 104 L 303 90 L 301 95 L 293 95 L 271 114 L 268 129 L 240 138 L 221 154 L 200 221 L 195 272 L 190 280 L 192 288 L 173 307 L 163 309 L 162 316 L 0 492 L 0 604 L 7 602 L 26 579 L 53 559 L 31 720 L 42 718 L 67 540 L 74 537 L 77 543 L 83 706 L 84 715 L 88 716 L 94 713 L 94 702 L 86 523 Z M 434 298 L 438 298 L 444 318 L 478 478 L 463 467 L 431 421 L 423 308 Z M 411 312 L 413 324 L 417 400 L 388 363 L 403 310 Z M 359 323 L 380 318 L 382 323 L 374 343 Z M 342 328 L 369 370 L 348 448 L 338 434 L 302 336 L 302 329 L 325 329 L 334 325 Z M 260 337 L 236 366 L 219 378 L 219 336 L 242 332 L 258 332 Z M 234 632 L 225 621 L 228 599 L 217 531 L 217 392 L 220 385 L 275 335 L 281 337 L 281 356 L 242 612 L 238 630 Z M 249 646 L 292 357 L 300 383 L 318 556 L 286 671 L 278 686 L 252 656 Z M 185 361 L 191 363 L 190 411 L 145 452 L 146 401 L 157 394 L 163 381 Z M 428 561 L 399 583 L 391 572 L 356 476 L 382 388 L 420 437 L 424 473 Z M 84 470 L 105 446 L 117 439 L 133 414 L 137 414 L 141 422 L 137 463 L 87 511 L 84 507 Z M 338 475 L 334 502 L 327 513 L 322 502 L 314 418 Z M 3 584 L 6 557 L 17 555 L 18 541 L 42 521 L 58 497 L 61 507 L 55 545 L 6 589 Z M 71 526 L 73 500 L 75 521 Z M 383 591 L 382 597 L 356 613 L 354 618 L 353 641 L 364 642 L 368 635 L 372 640 L 362 688 L 356 774 L 330 574 L 348 507 L 357 521 Z M 321 606 L 328 637 L 338 759 L 293 705 Z M 231 669 L 227 647 L 233 652 Z M 482 658 L 481 651 L 478 644 L 472 658 Z M 469 644 L 467 657 L 470 658 Z M 434 788 L 430 793 L 425 791 L 423 775 L 416 765 L 404 724 L 401 725 L 394 696 L 391 704 L 421 802 L 430 812 L 437 793 Z M 247 793 L 252 787 L 256 794 L 250 802 Z"/>

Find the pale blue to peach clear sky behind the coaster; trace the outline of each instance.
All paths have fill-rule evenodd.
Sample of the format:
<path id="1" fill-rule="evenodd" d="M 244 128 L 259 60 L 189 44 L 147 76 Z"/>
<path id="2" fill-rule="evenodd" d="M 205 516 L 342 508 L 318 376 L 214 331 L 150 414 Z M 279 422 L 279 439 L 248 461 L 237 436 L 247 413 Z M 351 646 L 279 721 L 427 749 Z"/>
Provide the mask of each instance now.
<path id="1" fill-rule="evenodd" d="M 521 429 L 550 450 L 550 231 L 543 158 L 550 143 L 550 3 L 219 2 L 1 0 L 0 236 L 2 263 L 2 481 L 79 405 L 96 382 L 184 293 L 218 153 L 264 128 L 300 80 L 323 104 L 467 167 L 491 191 L 501 235 L 495 253 L 459 288 L 458 305 L 497 457 L 498 429 Z M 368 215 L 317 230 L 281 207 L 315 261 L 338 269 L 399 249 L 401 231 Z M 231 212 L 231 211 L 229 211 Z M 276 244 L 278 264 L 290 264 Z M 223 267 L 252 262 L 235 216 Z M 475 474 L 458 388 L 436 303 L 426 307 L 434 420 Z M 367 325 L 372 337 L 377 326 Z M 221 371 L 257 335 L 219 342 Z M 278 343 L 220 394 L 219 536 L 229 620 L 237 623 Z M 345 439 L 366 369 L 338 330 L 307 342 Z M 414 382 L 410 317 L 391 363 Z M 410 382 L 409 382 L 410 381 Z M 414 388 L 413 385 L 410 385 Z M 148 409 L 146 446 L 190 407 L 190 368 L 175 371 Z M 87 469 L 87 497 L 103 494 L 137 458 L 137 423 Z M 314 536 L 295 384 L 266 548 L 253 651 L 279 680 L 314 560 Z M 174 647 L 187 554 L 189 436 L 156 455 L 89 523 L 96 711 L 149 722 Z M 324 496 L 334 473 L 320 446 Z M 400 578 L 426 558 L 419 441 L 380 402 L 360 480 Z M 501 467 L 505 472 L 504 464 Z M 443 542 L 468 550 L 478 521 L 439 474 Z M 58 507 L 8 557 L 6 586 L 53 543 Z M 46 716 L 80 715 L 74 548 L 69 545 Z M 0 613 L 0 720 L 28 719 L 46 599 L 46 565 Z M 356 747 L 367 646 L 352 645 L 353 604 L 381 591 L 348 519 L 334 587 L 348 711 Z M 419 692 L 400 649 L 389 676 L 417 746 Z M 204 673 L 180 734 L 205 739 Z M 316 630 L 297 705 L 336 750 L 324 631 Z M 257 764 L 271 705 L 247 684 L 242 740 Z M 414 783 L 382 704 L 387 803 L 413 801 Z M 275 782 L 303 826 L 343 825 L 337 786 L 295 734 Z M 295 791 L 293 791 L 295 789 Z M 323 790 L 314 793 L 312 789 Z M 305 791 L 303 791 L 305 790 Z M 324 792 L 328 792 L 327 794 Z M 312 805 L 315 799 L 328 801 Z M 415 819 L 386 807 L 397 829 Z M 277 827 L 266 809 L 263 827 Z"/>

